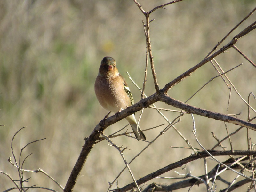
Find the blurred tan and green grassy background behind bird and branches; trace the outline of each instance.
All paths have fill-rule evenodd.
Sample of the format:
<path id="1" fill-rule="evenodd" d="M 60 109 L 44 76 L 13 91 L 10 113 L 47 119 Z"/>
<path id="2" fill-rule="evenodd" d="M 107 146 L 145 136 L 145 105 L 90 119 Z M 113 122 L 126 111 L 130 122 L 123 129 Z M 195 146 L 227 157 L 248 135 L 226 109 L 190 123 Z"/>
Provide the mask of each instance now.
<path id="1" fill-rule="evenodd" d="M 140 0 L 147 11 L 168 1 Z M 166 9 L 158 9 L 150 15 L 150 40 L 160 88 L 199 63 L 212 48 L 256 6 L 253 0 L 194 0 L 182 1 Z M 221 45 L 227 44 L 233 36 L 255 21 L 255 14 L 239 26 Z M 140 100 L 140 91 L 128 79 L 126 71 L 142 87 L 145 70 L 146 41 L 142 19 L 144 15 L 132 1 L 93 0 L 2 0 L 0 1 L 0 170 L 18 179 L 17 170 L 7 162 L 11 152 L 11 140 L 15 132 L 26 126 L 14 139 L 14 152 L 27 143 L 46 138 L 29 145 L 21 159 L 33 153 L 23 168 L 43 169 L 65 187 L 77 157 L 94 127 L 108 113 L 98 103 L 94 94 L 94 81 L 100 61 L 104 56 L 115 58 L 119 72 L 126 78 L 135 102 Z M 236 46 L 252 61 L 256 61 L 255 31 L 238 41 Z M 220 47 L 221 47 L 220 46 Z M 233 49 L 216 58 L 224 71 L 243 63 L 227 75 L 240 94 L 247 100 L 250 92 L 256 93 L 256 69 Z M 168 94 L 186 101 L 201 86 L 218 73 L 211 63 L 205 64 L 191 76 L 173 87 Z M 154 93 L 154 84 L 148 69 L 145 93 Z M 221 78 L 217 78 L 189 100 L 196 107 L 220 113 L 241 113 L 239 118 L 247 119 L 248 108 L 234 90 L 231 93 Z M 251 97 L 250 104 L 256 108 Z M 163 103 L 157 107 L 176 109 Z M 177 110 L 177 109 L 176 109 Z M 164 112 L 172 121 L 178 113 Z M 137 112 L 137 119 L 140 113 Z M 251 113 L 254 117 L 255 113 Z M 205 148 L 216 144 L 211 132 L 222 139 L 226 130 L 223 122 L 195 116 L 197 136 Z M 140 120 L 142 129 L 167 124 L 159 114 L 146 108 Z M 254 121 L 255 123 L 255 121 Z M 106 129 L 111 134 L 127 125 L 122 120 Z M 238 126 L 227 124 L 229 132 Z M 189 142 L 198 148 L 191 132 L 193 125 L 190 115 L 182 117 L 176 126 Z M 131 131 L 130 126 L 127 127 Z M 153 140 L 164 126 L 145 132 Z M 249 131 L 255 143 L 255 133 Z M 235 150 L 247 149 L 246 129 L 231 137 Z M 125 136 L 113 141 L 126 150 L 124 156 L 130 161 L 147 143 L 138 142 Z M 124 168 L 119 152 L 106 141 L 95 145 L 77 180 L 74 191 L 107 191 L 108 181 L 112 182 Z M 230 149 L 228 141 L 223 143 Z M 136 179 L 174 163 L 191 154 L 191 150 L 170 148 L 188 147 L 170 129 L 160 140 L 156 140 L 130 165 Z M 216 148 L 220 149 L 220 148 Z M 218 157 L 221 161 L 227 157 Z M 12 158 L 13 160 L 13 158 Z M 208 170 L 214 165 L 209 162 Z M 193 175 L 204 174 L 203 160 L 190 163 L 186 170 Z M 226 175 L 225 175 L 226 174 Z M 55 190 L 60 188 L 45 175 L 25 173 L 31 177 L 26 186 L 37 184 Z M 164 176 L 177 174 L 170 171 Z M 223 177 L 231 182 L 236 174 L 227 172 Z M 154 179 L 152 182 L 175 182 Z M 132 182 L 127 170 L 118 179 L 118 187 Z M 4 175 L 0 175 L 0 190 L 14 187 Z M 116 187 L 116 183 L 114 187 Z M 146 187 L 146 186 L 145 186 Z M 219 189 L 227 185 L 220 183 Z M 244 186 L 244 189 L 247 185 Z M 241 189 L 241 188 L 240 188 Z M 31 190 L 38 191 L 38 190 Z M 184 189 L 180 190 L 184 191 Z M 194 186 L 191 191 L 205 191 L 205 186 Z"/>

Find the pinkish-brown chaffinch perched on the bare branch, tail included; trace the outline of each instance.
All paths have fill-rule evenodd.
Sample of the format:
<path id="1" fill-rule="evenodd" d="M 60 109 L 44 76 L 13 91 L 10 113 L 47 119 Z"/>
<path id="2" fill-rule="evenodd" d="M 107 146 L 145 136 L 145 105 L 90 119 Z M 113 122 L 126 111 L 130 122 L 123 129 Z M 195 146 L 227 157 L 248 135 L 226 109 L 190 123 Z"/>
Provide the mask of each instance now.
<path id="1" fill-rule="evenodd" d="M 118 73 L 116 61 L 112 57 L 104 57 L 102 59 L 94 90 L 100 105 L 108 111 L 116 113 L 134 104 L 132 93 L 124 77 Z M 130 123 L 133 132 L 135 132 L 135 137 L 146 140 L 139 126 L 137 129 L 137 121 L 134 114 L 127 116 L 126 120 Z"/>

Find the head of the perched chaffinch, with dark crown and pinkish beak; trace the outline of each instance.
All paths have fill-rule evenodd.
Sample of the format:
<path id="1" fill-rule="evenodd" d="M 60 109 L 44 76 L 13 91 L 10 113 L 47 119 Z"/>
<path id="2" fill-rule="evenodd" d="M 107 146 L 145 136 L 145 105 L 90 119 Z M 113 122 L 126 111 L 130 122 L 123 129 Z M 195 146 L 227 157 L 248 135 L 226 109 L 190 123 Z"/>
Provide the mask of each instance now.
<path id="1" fill-rule="evenodd" d="M 102 76 L 119 75 L 116 68 L 116 61 L 112 57 L 104 57 L 100 63 L 99 74 Z"/>

